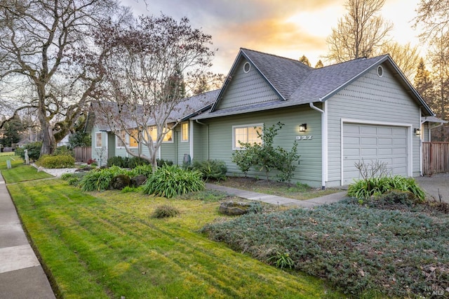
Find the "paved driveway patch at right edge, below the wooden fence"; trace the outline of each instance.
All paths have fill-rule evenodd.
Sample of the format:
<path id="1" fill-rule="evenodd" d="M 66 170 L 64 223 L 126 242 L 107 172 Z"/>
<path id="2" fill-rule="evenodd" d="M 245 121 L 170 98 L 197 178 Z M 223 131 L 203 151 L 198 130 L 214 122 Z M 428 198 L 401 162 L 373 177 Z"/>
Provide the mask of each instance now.
<path id="1" fill-rule="evenodd" d="M 415 178 L 418 185 L 427 193 L 430 201 L 445 201 L 449 204 L 449 173 L 438 173 Z"/>

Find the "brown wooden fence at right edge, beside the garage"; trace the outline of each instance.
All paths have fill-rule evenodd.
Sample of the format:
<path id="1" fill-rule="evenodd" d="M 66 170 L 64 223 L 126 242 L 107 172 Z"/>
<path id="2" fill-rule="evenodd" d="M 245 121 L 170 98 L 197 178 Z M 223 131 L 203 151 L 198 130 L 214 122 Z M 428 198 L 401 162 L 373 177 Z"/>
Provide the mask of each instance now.
<path id="1" fill-rule="evenodd" d="M 449 172 L 449 142 L 422 142 L 422 172 Z"/>

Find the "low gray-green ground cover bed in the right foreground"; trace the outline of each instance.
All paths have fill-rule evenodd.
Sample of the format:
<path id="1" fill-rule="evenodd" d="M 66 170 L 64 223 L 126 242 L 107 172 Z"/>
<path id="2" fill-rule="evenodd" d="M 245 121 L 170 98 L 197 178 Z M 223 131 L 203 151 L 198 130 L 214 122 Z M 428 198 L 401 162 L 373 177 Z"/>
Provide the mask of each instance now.
<path id="1" fill-rule="evenodd" d="M 357 298 L 449 295 L 449 215 L 431 204 L 399 211 L 376 203 L 346 199 L 312 210 L 243 215 L 203 232 L 272 265 L 293 264 L 326 278 Z"/>

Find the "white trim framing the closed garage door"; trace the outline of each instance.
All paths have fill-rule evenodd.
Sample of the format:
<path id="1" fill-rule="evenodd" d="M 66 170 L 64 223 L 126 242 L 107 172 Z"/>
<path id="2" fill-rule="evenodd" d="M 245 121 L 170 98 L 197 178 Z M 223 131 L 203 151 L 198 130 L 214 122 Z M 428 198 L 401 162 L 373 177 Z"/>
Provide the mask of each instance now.
<path id="1" fill-rule="evenodd" d="M 413 125 L 406 123 L 395 123 L 390 121 L 364 121 L 361 119 L 341 119 L 340 121 L 340 185 L 344 184 L 344 124 L 362 124 L 371 126 L 397 126 L 402 128 L 407 128 L 407 173 L 408 176 L 413 176 Z"/>

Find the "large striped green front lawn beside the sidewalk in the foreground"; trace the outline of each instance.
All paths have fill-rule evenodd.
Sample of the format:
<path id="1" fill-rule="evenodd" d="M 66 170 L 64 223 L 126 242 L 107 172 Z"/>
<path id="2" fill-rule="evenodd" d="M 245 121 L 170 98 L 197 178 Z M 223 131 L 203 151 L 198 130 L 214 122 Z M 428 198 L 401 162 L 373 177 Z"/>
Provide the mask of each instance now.
<path id="1" fill-rule="evenodd" d="M 217 201 L 86 193 L 58 179 L 8 189 L 62 298 L 342 297 L 319 279 L 199 234 L 203 225 L 226 219 Z M 180 215 L 152 218 L 163 204 Z"/>

